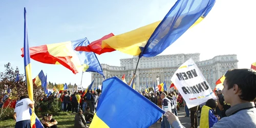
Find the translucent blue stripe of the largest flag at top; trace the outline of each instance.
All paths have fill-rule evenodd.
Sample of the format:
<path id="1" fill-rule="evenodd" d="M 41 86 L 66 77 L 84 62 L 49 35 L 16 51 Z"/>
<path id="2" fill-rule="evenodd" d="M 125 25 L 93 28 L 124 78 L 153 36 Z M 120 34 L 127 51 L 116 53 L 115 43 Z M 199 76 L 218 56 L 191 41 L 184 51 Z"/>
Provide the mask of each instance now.
<path id="1" fill-rule="evenodd" d="M 165 15 L 139 57 L 153 57 L 172 45 L 187 29 L 201 22 L 216 0 L 178 0 Z"/>

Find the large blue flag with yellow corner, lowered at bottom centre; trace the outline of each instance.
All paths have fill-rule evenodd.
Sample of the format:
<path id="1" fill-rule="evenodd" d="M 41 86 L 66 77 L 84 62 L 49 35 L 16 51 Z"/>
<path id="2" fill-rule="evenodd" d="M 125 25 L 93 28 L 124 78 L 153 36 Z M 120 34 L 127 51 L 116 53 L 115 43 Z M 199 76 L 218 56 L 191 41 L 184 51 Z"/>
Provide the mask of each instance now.
<path id="1" fill-rule="evenodd" d="M 104 91 L 90 128 L 150 127 L 165 113 L 117 77 L 102 84 Z"/>

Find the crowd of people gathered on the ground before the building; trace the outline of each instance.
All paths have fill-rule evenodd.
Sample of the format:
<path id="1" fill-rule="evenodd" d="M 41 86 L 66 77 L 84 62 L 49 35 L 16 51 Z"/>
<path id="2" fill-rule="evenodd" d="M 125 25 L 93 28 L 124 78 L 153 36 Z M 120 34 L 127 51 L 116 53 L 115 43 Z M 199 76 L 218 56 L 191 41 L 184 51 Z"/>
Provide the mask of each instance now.
<path id="1" fill-rule="evenodd" d="M 184 127 L 178 118 L 180 106 L 185 108 L 185 117 L 190 116 L 190 128 L 194 127 L 256 127 L 256 73 L 248 69 L 234 69 L 227 71 L 223 82 L 224 89 L 215 91 L 216 99 L 208 99 L 205 103 L 188 109 L 185 101 L 178 91 L 150 92 L 138 91 L 148 100 L 155 103 L 166 113 L 158 120 L 161 127 Z M 50 97 L 51 96 L 51 97 Z M 61 109 L 64 112 L 76 113 L 74 117 L 75 127 L 88 127 L 93 119 L 100 93 L 89 90 L 86 92 L 64 91 L 60 94 L 52 94 L 42 98 L 48 101 L 61 101 Z M 22 96 L 17 101 L 14 110 L 15 127 L 30 127 L 29 108 L 34 108 L 34 102 L 27 96 Z M 198 111 L 201 112 L 200 125 L 198 125 Z M 241 117 L 243 119 L 241 120 Z M 57 120 L 52 114 L 41 118 L 44 127 L 57 127 Z"/>

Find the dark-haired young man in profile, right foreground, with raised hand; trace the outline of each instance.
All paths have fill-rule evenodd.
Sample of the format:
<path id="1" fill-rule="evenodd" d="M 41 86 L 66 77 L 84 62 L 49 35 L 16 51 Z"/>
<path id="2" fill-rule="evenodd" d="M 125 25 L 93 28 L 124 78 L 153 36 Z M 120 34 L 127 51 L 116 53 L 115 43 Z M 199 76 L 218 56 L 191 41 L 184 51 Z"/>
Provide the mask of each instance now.
<path id="1" fill-rule="evenodd" d="M 252 102 L 256 97 L 256 71 L 233 69 L 227 71 L 225 77 L 222 93 L 231 108 L 226 111 L 227 117 L 219 120 L 212 128 L 256 127 L 256 108 Z M 166 114 L 174 127 L 183 127 L 172 112 Z"/>

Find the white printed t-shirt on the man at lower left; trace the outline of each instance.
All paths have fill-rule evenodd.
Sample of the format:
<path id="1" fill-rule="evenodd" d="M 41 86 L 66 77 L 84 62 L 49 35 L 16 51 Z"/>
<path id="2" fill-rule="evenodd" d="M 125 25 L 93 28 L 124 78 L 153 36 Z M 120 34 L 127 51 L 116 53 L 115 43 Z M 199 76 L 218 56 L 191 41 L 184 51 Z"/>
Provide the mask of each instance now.
<path id="1" fill-rule="evenodd" d="M 29 98 L 22 99 L 16 103 L 14 112 L 16 113 L 16 122 L 30 120 L 29 104 L 32 101 Z"/>

